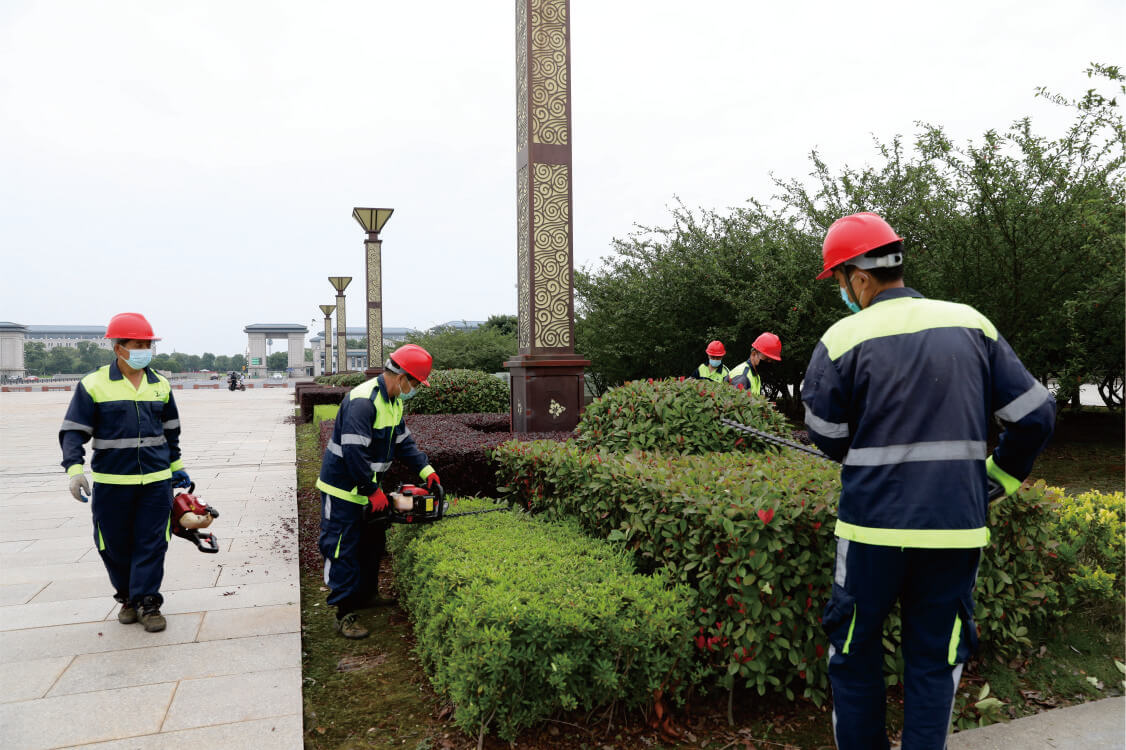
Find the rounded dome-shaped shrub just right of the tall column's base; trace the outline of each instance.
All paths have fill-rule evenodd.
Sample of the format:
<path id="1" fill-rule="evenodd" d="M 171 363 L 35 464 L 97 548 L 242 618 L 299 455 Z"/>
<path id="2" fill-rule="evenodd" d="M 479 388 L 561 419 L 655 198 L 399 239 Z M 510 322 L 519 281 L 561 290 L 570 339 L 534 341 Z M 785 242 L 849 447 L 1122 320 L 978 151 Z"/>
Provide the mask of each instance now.
<path id="1" fill-rule="evenodd" d="M 703 454 L 762 450 L 766 443 L 720 422 L 732 419 L 789 438 L 785 418 L 766 399 L 711 381 L 635 381 L 587 407 L 579 445 L 608 450 Z"/>

